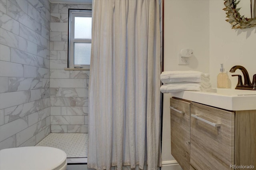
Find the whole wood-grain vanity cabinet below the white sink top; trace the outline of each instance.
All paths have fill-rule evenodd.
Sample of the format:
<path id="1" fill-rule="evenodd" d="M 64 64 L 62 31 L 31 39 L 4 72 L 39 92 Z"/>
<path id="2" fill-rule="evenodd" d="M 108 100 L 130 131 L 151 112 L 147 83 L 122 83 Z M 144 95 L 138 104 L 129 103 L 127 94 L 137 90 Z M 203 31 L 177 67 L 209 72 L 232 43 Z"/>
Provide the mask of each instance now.
<path id="1" fill-rule="evenodd" d="M 184 170 L 256 169 L 256 110 L 226 111 L 177 98 L 170 106 L 172 155 Z"/>

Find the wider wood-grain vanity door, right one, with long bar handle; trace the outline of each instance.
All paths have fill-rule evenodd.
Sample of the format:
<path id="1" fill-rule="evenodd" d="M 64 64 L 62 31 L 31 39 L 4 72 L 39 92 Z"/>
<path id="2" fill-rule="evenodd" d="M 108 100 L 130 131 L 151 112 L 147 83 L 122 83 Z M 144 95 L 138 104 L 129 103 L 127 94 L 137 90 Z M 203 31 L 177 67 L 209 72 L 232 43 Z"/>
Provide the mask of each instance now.
<path id="1" fill-rule="evenodd" d="M 196 170 L 230 170 L 234 112 L 191 103 L 190 114 L 190 164 Z"/>

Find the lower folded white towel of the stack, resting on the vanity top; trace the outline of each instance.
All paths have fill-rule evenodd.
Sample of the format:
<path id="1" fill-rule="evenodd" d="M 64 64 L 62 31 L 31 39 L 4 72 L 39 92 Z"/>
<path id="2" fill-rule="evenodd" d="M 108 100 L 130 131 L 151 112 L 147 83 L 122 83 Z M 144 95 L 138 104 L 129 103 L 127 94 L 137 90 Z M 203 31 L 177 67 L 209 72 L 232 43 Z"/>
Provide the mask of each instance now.
<path id="1" fill-rule="evenodd" d="M 177 93 L 180 91 L 207 91 L 211 88 L 211 84 L 208 83 L 189 83 L 189 82 L 180 82 L 180 83 L 168 83 L 160 87 L 162 93 Z"/>

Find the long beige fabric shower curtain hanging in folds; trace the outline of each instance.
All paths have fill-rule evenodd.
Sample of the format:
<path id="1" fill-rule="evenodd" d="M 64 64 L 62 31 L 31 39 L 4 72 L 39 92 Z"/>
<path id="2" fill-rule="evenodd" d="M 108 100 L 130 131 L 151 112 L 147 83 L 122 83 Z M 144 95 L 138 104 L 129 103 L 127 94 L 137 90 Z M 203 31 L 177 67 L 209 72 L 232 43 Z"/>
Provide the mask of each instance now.
<path id="1" fill-rule="evenodd" d="M 159 2 L 94 0 L 92 20 L 88 168 L 147 164 L 156 170 L 161 159 Z"/>

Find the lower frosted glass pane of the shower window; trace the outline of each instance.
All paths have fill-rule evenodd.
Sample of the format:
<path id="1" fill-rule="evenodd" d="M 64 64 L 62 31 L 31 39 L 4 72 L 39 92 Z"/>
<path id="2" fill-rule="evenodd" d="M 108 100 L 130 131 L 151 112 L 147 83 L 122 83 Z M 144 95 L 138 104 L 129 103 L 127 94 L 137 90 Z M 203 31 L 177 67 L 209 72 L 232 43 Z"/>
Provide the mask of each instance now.
<path id="1" fill-rule="evenodd" d="M 74 64 L 90 65 L 91 43 L 74 43 Z"/>

